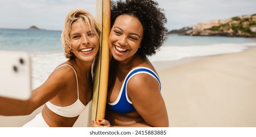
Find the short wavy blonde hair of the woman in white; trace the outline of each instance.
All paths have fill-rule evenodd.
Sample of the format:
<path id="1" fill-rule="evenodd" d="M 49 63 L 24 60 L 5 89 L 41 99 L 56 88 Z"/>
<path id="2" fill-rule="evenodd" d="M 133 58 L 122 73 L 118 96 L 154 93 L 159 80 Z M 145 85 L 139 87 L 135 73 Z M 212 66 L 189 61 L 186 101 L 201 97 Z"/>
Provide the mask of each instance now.
<path id="1" fill-rule="evenodd" d="M 70 11 L 65 18 L 64 29 L 62 31 L 62 45 L 66 58 L 72 58 L 74 56 L 70 42 L 70 31 L 73 23 L 80 23 L 82 27 L 89 28 L 92 33 L 97 35 L 98 39 L 101 33 L 98 22 L 90 12 L 82 9 Z"/>

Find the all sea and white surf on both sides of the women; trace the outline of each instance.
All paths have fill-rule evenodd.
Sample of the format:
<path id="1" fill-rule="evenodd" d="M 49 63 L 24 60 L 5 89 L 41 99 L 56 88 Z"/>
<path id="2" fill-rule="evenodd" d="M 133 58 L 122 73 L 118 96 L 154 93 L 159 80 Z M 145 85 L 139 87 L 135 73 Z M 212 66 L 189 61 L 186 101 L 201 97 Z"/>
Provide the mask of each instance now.
<path id="1" fill-rule="evenodd" d="M 62 31 L 0 29 L 0 50 L 29 52 L 32 59 L 32 88 L 40 86 L 59 64 L 67 59 L 61 43 Z M 256 46 L 256 38 L 169 35 L 152 62 L 186 57 L 240 52 Z"/>

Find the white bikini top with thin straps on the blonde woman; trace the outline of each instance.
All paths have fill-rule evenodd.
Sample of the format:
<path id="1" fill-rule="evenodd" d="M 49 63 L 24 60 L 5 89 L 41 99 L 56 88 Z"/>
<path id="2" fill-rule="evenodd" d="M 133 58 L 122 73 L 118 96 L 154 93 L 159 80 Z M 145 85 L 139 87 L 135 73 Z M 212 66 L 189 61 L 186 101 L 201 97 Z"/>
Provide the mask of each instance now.
<path id="1" fill-rule="evenodd" d="M 68 64 L 64 64 L 62 66 L 65 66 L 65 65 L 71 67 Z M 59 66 L 58 68 L 60 68 L 62 66 Z M 56 69 L 58 69 L 58 68 L 56 68 Z M 74 68 L 72 68 L 72 69 L 75 72 L 75 69 Z M 78 79 L 77 79 L 76 72 L 75 72 L 75 76 L 76 76 L 76 83 L 77 83 L 77 100 L 73 104 L 71 104 L 69 106 L 65 106 L 65 107 L 59 107 L 59 106 L 52 104 L 50 101 L 45 103 L 46 106 L 55 114 L 59 114 L 64 117 L 76 117 L 79 114 L 81 114 L 84 111 L 84 109 L 86 108 L 86 106 L 79 100 Z"/>

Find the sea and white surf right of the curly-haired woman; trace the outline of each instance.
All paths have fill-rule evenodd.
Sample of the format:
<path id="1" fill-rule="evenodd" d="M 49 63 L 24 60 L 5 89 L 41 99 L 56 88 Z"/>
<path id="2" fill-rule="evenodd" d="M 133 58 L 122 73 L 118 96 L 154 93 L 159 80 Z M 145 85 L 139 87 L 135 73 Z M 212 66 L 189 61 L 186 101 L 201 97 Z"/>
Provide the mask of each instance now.
<path id="1" fill-rule="evenodd" d="M 151 61 L 240 52 L 256 46 L 256 38 L 169 35 Z"/>

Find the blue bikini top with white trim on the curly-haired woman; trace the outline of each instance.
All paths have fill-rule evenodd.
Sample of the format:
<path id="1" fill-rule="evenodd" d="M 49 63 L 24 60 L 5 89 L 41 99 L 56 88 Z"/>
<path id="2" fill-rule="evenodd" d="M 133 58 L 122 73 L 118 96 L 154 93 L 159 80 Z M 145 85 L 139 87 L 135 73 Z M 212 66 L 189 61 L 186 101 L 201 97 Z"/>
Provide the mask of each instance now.
<path id="1" fill-rule="evenodd" d="M 134 68 L 134 69 L 130 70 L 129 73 L 127 74 L 125 81 L 122 85 L 122 88 L 119 92 L 117 100 L 113 103 L 107 102 L 107 106 L 111 110 L 113 110 L 116 113 L 120 113 L 120 114 L 127 114 L 127 113 L 131 113 L 131 112 L 135 111 L 135 109 L 132 106 L 132 103 L 129 100 L 128 95 L 127 95 L 127 83 L 132 76 L 139 74 L 139 73 L 147 73 L 147 74 L 153 76 L 154 78 L 156 78 L 160 85 L 159 91 L 161 90 L 160 79 L 159 79 L 158 75 L 153 70 L 151 70 L 149 68 L 145 68 L 145 67 Z"/>

